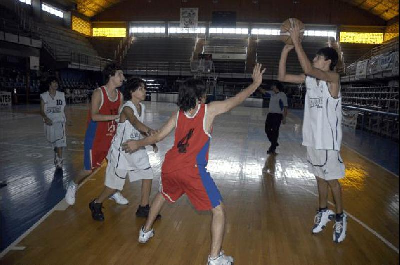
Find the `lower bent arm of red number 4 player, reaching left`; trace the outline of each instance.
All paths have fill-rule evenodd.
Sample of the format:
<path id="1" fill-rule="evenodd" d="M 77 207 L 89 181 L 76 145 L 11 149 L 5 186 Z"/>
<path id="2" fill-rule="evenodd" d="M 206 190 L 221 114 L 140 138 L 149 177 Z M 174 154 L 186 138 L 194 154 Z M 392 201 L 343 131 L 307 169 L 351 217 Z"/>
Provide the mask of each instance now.
<path id="1" fill-rule="evenodd" d="M 122 150 L 124 150 L 127 153 L 132 153 L 135 150 L 146 146 L 146 145 L 152 145 L 156 142 L 162 141 L 166 136 L 168 136 L 169 133 L 175 128 L 176 125 L 176 113 L 173 113 L 173 115 L 169 118 L 169 120 L 161 127 L 161 129 L 148 137 L 145 137 L 141 140 L 130 140 L 122 144 Z"/>

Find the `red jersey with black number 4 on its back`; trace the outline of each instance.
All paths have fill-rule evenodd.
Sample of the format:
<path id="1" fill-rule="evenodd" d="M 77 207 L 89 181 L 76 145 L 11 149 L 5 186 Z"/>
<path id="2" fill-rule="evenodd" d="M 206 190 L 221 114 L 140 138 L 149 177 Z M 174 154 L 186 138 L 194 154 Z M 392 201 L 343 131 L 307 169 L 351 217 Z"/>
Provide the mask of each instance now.
<path id="1" fill-rule="evenodd" d="M 177 113 L 175 141 L 165 155 L 163 173 L 207 166 L 211 135 L 205 129 L 206 114 L 206 104 L 199 104 L 193 116 L 182 110 Z"/>

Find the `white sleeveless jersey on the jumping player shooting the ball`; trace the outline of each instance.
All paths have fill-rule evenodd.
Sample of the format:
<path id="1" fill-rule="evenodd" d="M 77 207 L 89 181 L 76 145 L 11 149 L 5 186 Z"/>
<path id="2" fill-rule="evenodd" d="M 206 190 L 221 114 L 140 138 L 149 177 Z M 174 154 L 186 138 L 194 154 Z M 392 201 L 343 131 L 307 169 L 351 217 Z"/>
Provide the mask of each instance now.
<path id="1" fill-rule="evenodd" d="M 330 95 L 327 83 L 307 76 L 304 103 L 303 145 L 322 150 L 340 150 L 341 91 Z"/>

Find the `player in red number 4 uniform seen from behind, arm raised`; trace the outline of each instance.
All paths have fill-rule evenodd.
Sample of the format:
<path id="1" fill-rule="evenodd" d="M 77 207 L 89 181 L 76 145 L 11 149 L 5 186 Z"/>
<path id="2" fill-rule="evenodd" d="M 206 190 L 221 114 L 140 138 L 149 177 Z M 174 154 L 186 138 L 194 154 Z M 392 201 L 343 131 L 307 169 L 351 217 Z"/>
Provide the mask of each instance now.
<path id="1" fill-rule="evenodd" d="M 205 104 L 204 83 L 196 79 L 186 81 L 179 89 L 177 104 L 180 110 L 169 118 L 158 133 L 122 144 L 126 152 L 132 152 L 161 141 L 176 128 L 173 147 L 166 153 L 162 164 L 160 191 L 153 200 L 146 224 L 139 232 L 140 243 L 146 243 L 154 236 L 152 225 L 164 202 L 175 202 L 186 194 L 197 210 L 210 210 L 212 213 L 208 264 L 232 264 L 233 258 L 221 251 L 225 224 L 222 196 L 206 169 L 212 122 L 216 116 L 249 97 L 261 84 L 264 71 L 257 64 L 251 85 L 232 98 L 209 104 Z"/>

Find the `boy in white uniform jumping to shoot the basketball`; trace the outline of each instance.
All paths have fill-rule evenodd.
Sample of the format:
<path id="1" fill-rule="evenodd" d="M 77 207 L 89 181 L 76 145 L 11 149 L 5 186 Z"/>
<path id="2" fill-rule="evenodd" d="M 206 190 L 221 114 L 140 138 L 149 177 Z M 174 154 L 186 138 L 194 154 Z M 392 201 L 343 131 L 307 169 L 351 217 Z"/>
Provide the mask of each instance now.
<path id="1" fill-rule="evenodd" d="M 311 63 L 301 46 L 300 30 L 295 21 L 289 32 L 293 46 L 286 45 L 282 50 L 278 79 L 291 83 L 305 82 L 307 86 L 302 144 L 307 146 L 307 160 L 316 176 L 319 193 L 319 210 L 312 232 L 321 232 L 335 216 L 333 241 L 339 243 L 346 237 L 347 215 L 343 212 L 338 181 L 344 177 L 344 163 L 339 153 L 342 136 L 340 76 L 334 71 L 338 54 L 333 48 L 322 48 Z M 287 55 L 293 48 L 304 74 L 286 74 Z M 329 187 L 336 204 L 336 214 L 327 208 Z"/>

